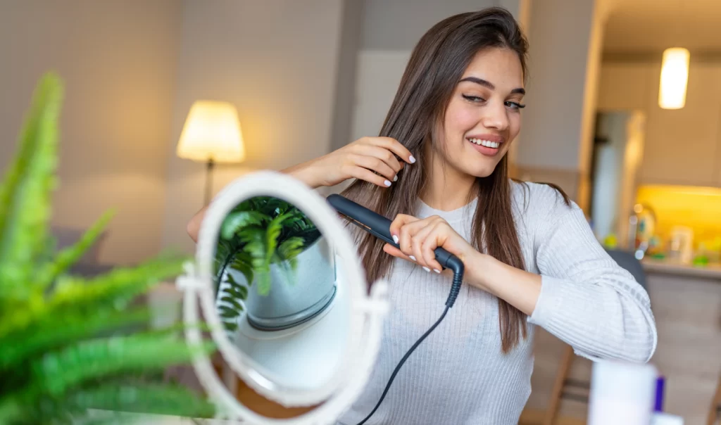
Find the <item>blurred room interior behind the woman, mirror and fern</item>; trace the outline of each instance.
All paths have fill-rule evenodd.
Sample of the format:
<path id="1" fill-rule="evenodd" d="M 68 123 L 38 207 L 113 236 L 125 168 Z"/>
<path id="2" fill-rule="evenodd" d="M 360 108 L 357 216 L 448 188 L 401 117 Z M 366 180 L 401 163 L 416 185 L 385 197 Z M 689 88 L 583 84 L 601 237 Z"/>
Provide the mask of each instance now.
<path id="1" fill-rule="evenodd" d="M 206 197 L 248 171 L 377 135 L 420 36 L 485 6 L 513 12 L 531 43 L 513 176 L 559 184 L 601 243 L 642 261 L 663 408 L 711 424 L 721 371 L 719 0 L 1 0 L 0 171 L 37 79 L 55 70 L 66 83 L 61 244 L 113 207 L 88 272 L 166 248 L 192 253 L 185 225 Z M 226 140 L 234 150 L 210 174 L 193 143 L 208 117 L 237 124 Z M 590 362 L 567 359 L 544 331 L 536 344 L 522 423 L 583 424 Z"/>

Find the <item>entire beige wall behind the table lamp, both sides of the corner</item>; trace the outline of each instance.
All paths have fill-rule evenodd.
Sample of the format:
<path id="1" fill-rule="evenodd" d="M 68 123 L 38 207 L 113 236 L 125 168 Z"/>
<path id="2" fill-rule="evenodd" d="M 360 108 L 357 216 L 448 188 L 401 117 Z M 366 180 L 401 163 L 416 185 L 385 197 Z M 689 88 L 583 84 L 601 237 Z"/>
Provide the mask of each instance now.
<path id="1" fill-rule="evenodd" d="M 163 248 L 193 251 L 185 223 L 202 206 L 203 166 L 175 156 L 190 104 L 222 99 L 239 109 L 247 162 L 218 166 L 215 191 L 244 170 L 282 169 L 327 153 L 344 4 L 2 4 L 0 171 L 32 88 L 53 68 L 66 81 L 53 224 L 84 229 L 117 208 L 100 251 L 104 263 L 134 263 Z"/>

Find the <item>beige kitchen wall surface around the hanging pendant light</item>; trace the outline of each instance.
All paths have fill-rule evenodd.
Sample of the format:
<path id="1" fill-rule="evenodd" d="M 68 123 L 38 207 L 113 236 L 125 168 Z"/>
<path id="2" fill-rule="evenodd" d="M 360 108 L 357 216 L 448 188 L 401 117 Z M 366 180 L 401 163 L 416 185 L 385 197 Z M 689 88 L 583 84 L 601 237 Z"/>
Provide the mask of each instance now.
<path id="1" fill-rule="evenodd" d="M 691 51 L 682 109 L 658 106 L 660 52 L 609 56 L 598 107 L 636 110 L 647 117 L 640 184 L 721 187 L 721 56 Z"/>

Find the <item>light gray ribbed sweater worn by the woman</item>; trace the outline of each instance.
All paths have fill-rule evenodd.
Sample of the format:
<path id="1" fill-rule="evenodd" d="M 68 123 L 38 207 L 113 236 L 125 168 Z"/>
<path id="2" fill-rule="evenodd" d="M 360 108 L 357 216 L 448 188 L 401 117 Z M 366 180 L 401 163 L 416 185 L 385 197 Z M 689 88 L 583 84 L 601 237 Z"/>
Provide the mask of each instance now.
<path id="1" fill-rule="evenodd" d="M 469 240 L 477 201 L 454 211 L 418 202 L 420 218 L 440 215 Z M 411 354 L 366 424 L 517 424 L 531 393 L 534 326 L 590 359 L 645 362 L 656 346 L 647 293 L 599 245 L 578 205 L 567 207 L 542 184 L 513 183 L 518 237 L 541 295 L 528 339 L 500 350 L 497 298 L 470 285 L 438 328 Z M 396 259 L 389 275 L 391 311 L 373 374 L 339 424 L 361 421 L 379 400 L 407 349 L 443 312 L 451 279 Z"/>

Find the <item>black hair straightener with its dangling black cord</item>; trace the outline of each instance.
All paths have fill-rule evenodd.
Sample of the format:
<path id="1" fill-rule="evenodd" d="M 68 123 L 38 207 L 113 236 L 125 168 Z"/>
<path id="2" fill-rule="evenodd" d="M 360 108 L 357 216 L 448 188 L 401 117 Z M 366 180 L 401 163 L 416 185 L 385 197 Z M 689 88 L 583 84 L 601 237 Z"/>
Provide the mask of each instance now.
<path id="1" fill-rule="evenodd" d="M 349 200 L 346 197 L 342 197 L 340 194 L 331 194 L 326 199 L 338 213 L 345 216 L 345 218 L 348 218 L 351 223 L 358 225 L 358 227 L 362 228 L 368 233 L 371 233 L 371 235 L 376 236 L 376 238 L 381 239 L 381 241 L 390 243 L 392 246 L 400 249 L 398 243 L 395 243 L 393 241 L 393 237 L 391 236 L 391 220 L 385 218 L 378 213 L 368 210 L 368 208 L 363 207 L 362 205 L 358 205 L 357 203 Z M 416 347 L 420 345 L 421 342 L 423 342 L 426 336 L 433 332 L 433 329 L 435 329 L 436 326 L 438 326 L 438 324 L 443 321 L 443 318 L 446 317 L 446 313 L 448 313 L 448 308 L 453 307 L 454 303 L 456 302 L 456 298 L 458 298 L 459 292 L 461 292 L 461 283 L 463 282 L 464 273 L 463 261 L 461 261 L 457 256 L 454 256 L 453 254 L 441 247 L 436 248 L 434 253 L 435 259 L 441 264 L 443 269 L 451 269 L 454 274 L 453 285 L 451 285 L 451 292 L 448 294 L 448 299 L 446 300 L 446 309 L 443 310 L 443 314 L 441 314 L 441 317 L 438 318 L 438 321 L 433 323 L 433 326 L 430 326 L 430 328 L 428 328 L 428 331 L 425 331 L 425 334 L 423 334 L 417 341 L 415 341 L 415 344 L 410 347 L 408 352 L 406 352 L 400 362 L 398 362 L 398 365 L 396 366 L 391 377 L 389 378 L 388 383 L 386 384 L 386 388 L 383 390 L 383 394 L 381 395 L 380 400 L 376 404 L 376 407 L 373 408 L 373 411 L 371 411 L 371 413 L 368 413 L 366 419 L 358 422 L 358 425 L 365 424 L 366 421 L 368 421 L 368 419 L 373 416 L 373 413 L 376 413 L 376 410 L 379 408 L 379 406 L 381 406 L 381 402 L 386 397 L 386 394 L 391 387 L 391 383 L 393 383 L 393 380 L 395 379 L 398 371 L 400 370 L 406 359 L 408 359 L 413 350 L 415 350 Z"/>

